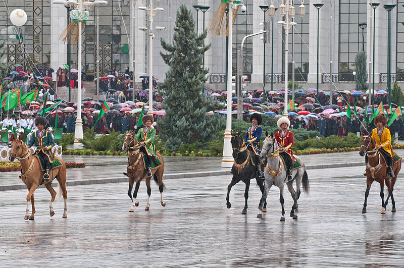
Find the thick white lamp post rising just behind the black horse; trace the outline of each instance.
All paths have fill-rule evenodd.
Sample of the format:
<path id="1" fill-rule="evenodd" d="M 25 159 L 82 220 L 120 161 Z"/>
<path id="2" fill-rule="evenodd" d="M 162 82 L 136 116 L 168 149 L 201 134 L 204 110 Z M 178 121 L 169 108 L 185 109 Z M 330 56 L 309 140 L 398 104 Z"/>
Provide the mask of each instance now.
<path id="1" fill-rule="evenodd" d="M 229 1 L 229 43 L 228 43 L 228 62 L 227 62 L 227 115 L 226 115 L 226 130 L 224 131 L 224 143 L 223 143 L 223 158 L 222 167 L 231 168 L 233 166 L 233 155 L 231 149 L 231 70 L 232 70 L 232 49 L 233 49 L 233 10 L 237 9 L 237 6 L 241 6 L 242 12 L 245 12 L 245 6 L 243 4 L 234 4 L 234 0 Z"/>

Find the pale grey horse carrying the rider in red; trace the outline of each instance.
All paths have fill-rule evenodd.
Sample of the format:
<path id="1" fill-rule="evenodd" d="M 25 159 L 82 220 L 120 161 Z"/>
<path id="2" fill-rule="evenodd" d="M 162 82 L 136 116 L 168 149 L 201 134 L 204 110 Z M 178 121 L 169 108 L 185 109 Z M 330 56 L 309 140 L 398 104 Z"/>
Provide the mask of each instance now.
<path id="1" fill-rule="evenodd" d="M 268 163 L 265 167 L 264 174 L 265 174 L 265 191 L 262 195 L 262 200 L 266 201 L 269 189 L 272 185 L 275 185 L 279 188 L 280 197 L 279 201 L 282 205 L 282 216 L 280 221 L 285 221 L 285 210 L 283 208 L 283 184 L 286 183 L 287 188 L 289 189 L 290 194 L 293 198 L 293 206 L 292 210 L 290 211 L 290 217 L 293 219 L 297 219 L 297 213 L 299 212 L 297 206 L 297 200 L 300 196 L 300 184 L 303 183 L 303 191 L 308 194 L 310 190 L 309 185 L 309 178 L 307 176 L 307 172 L 305 170 L 305 164 L 302 160 L 294 155 L 294 157 L 298 160 L 301 164 L 300 168 L 294 169 L 292 173 L 292 178 L 296 181 L 296 191 L 293 189 L 293 180 L 287 181 L 287 171 L 283 165 L 281 156 L 279 155 L 280 148 L 278 146 L 278 142 L 275 140 L 274 135 L 268 136 L 268 133 L 265 133 L 267 136 L 264 140 L 262 151 L 260 156 L 262 158 L 267 157 Z M 260 206 L 260 212 L 257 215 L 257 218 L 262 217 L 263 206 Z"/>

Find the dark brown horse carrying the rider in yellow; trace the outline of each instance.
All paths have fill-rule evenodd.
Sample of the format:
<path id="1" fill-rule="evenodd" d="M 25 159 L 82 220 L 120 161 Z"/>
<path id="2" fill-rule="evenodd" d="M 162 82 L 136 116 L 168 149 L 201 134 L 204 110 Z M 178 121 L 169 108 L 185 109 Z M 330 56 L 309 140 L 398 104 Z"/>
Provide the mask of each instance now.
<path id="1" fill-rule="evenodd" d="M 393 197 L 394 184 L 397 179 L 398 172 L 401 169 L 401 161 L 397 161 L 393 165 L 394 177 L 389 178 L 387 174 L 387 166 L 382 157 L 382 154 L 376 149 L 376 142 L 371 136 L 363 136 L 361 141 L 361 150 L 359 151 L 361 156 L 365 154 L 368 155 L 368 164 L 366 165 L 366 191 L 365 191 L 365 202 L 363 203 L 362 213 L 366 213 L 366 205 L 369 195 L 370 186 L 373 181 L 377 181 L 380 184 L 380 197 L 382 198 L 382 211 L 380 213 L 386 213 L 386 207 L 388 199 L 391 197 L 391 204 L 393 208 L 391 212 L 395 212 L 395 201 Z M 381 160 L 382 159 L 382 160 Z M 386 183 L 388 189 L 388 195 L 386 202 L 384 202 L 384 182 Z"/>

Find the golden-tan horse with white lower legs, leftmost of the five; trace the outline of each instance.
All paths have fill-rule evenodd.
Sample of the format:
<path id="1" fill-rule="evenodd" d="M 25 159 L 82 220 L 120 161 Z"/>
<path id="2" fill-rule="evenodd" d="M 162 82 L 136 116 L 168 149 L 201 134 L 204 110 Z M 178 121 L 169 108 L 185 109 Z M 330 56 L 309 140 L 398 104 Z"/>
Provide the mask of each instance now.
<path id="1" fill-rule="evenodd" d="M 57 200 L 60 198 L 61 194 L 63 194 L 63 198 L 65 199 L 65 210 L 63 212 L 63 218 L 67 218 L 67 190 L 66 190 L 66 166 L 63 160 L 60 157 L 57 158 L 62 166 L 58 166 L 53 168 L 49 172 L 49 181 L 44 181 L 43 175 L 45 174 L 41 169 L 41 164 L 39 162 L 38 156 L 33 156 L 27 146 L 25 146 L 24 142 L 21 139 L 16 139 L 11 144 L 10 150 L 10 162 L 13 162 L 17 158 L 20 160 L 21 164 L 21 179 L 25 183 L 28 188 L 27 195 L 27 209 L 25 213 L 25 220 L 33 220 L 35 214 L 35 205 L 34 205 L 34 191 L 38 188 L 42 183 L 45 185 L 46 189 L 51 193 L 51 205 L 49 205 L 49 213 L 51 217 L 55 215 L 54 212 L 54 201 L 57 196 Z M 58 192 L 55 192 L 52 187 L 52 180 L 57 179 L 58 184 Z M 31 200 L 32 213 L 29 216 L 29 200 Z"/>

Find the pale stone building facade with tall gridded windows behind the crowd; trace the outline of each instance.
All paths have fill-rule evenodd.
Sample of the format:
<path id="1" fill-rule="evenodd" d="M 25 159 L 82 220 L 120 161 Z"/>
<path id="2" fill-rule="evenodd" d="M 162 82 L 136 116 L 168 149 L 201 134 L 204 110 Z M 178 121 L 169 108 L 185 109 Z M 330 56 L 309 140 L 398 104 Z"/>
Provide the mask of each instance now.
<path id="1" fill-rule="evenodd" d="M 140 6 L 147 6 L 150 0 L 108 0 L 107 5 L 88 9 L 89 19 L 82 31 L 82 70 L 96 75 L 97 52 L 97 14 L 99 75 L 116 69 L 124 72 L 126 68 L 136 73 L 138 78 L 148 73 L 149 41 L 147 32 L 138 27 L 149 26 L 148 17 Z M 196 20 L 193 5 L 209 6 L 204 14 L 199 11 L 197 30 L 200 33 L 208 29 L 220 1 L 184 0 Z M 307 3 L 306 3 L 307 2 Z M 324 6 L 317 11 L 313 4 L 306 1 L 306 15 L 294 17 L 297 25 L 289 32 L 288 44 L 288 78 L 291 79 L 294 68 L 295 81 L 304 87 L 316 87 L 317 60 L 319 61 L 320 89 L 330 88 L 330 80 L 338 89 L 354 87 L 355 57 L 364 49 L 367 53 L 368 72 L 375 69 L 376 90 L 385 89 L 387 81 L 387 11 L 380 6 L 373 9 L 366 0 L 326 0 L 319 3 Z M 391 73 L 392 82 L 404 81 L 404 0 L 396 0 L 397 6 L 391 11 Z M 52 0 L 5 0 L 7 6 L 0 6 L 0 41 L 5 43 L 6 53 L 2 59 L 13 70 L 15 64 L 42 64 L 57 70 L 68 62 L 68 44 L 60 40 L 60 35 L 68 24 L 68 9 L 57 5 Z M 165 26 L 164 31 L 154 31 L 153 66 L 154 76 L 161 81 L 165 78 L 168 67 L 163 62 L 160 38 L 172 41 L 176 12 L 179 1 L 155 0 L 154 5 L 164 8 L 154 17 L 154 26 Z M 244 0 L 247 10 L 239 12 L 233 27 L 233 73 L 236 67 L 236 51 L 245 35 L 263 29 L 264 11 L 260 5 L 271 5 L 270 1 Z M 278 8 L 278 2 L 274 5 Z M 298 13 L 300 0 L 295 0 L 294 7 Z M 26 11 L 28 21 L 24 26 L 14 27 L 9 14 L 16 8 Z M 318 15 L 319 14 L 319 18 Z M 274 89 L 282 88 L 284 81 L 285 31 L 278 24 L 282 19 L 278 11 L 271 18 L 265 13 L 269 25 L 269 42 L 264 44 L 260 35 L 248 38 L 244 43 L 243 73 L 248 76 L 248 88 L 260 88 L 265 77 L 266 88 L 273 77 Z M 319 19 L 319 24 L 317 20 Z M 375 19 L 375 25 L 373 21 Z M 272 21 L 274 27 L 272 28 Z M 317 59 L 317 27 L 319 27 L 319 58 Z M 375 35 L 373 36 L 373 29 Z M 273 32 L 273 36 L 272 36 Z M 375 49 L 373 50 L 373 39 Z M 226 36 L 209 33 L 206 44 L 212 44 L 205 54 L 205 67 L 209 69 L 209 88 L 225 88 L 226 73 Z M 264 70 L 264 45 L 265 74 Z M 273 49 L 273 53 L 272 53 Z M 71 67 L 77 68 L 77 45 L 70 45 Z M 373 53 L 375 62 L 372 62 Z M 272 68 L 273 63 L 273 68 Z M 374 65 L 374 66 L 373 66 Z M 28 68 L 29 69 L 29 68 Z M 330 76 L 332 73 L 332 77 Z M 370 73 L 370 79 L 373 74 Z M 55 78 L 55 77 L 54 77 Z"/>

